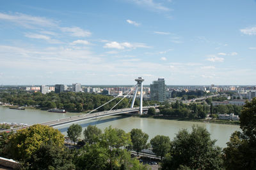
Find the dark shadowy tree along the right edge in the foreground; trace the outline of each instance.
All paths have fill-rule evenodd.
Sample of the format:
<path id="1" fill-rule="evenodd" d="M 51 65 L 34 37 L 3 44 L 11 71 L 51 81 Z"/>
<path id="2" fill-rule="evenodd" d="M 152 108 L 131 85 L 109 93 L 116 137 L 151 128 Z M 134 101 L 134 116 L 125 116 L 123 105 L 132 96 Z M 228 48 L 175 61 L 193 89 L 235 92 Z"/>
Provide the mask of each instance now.
<path id="1" fill-rule="evenodd" d="M 226 169 L 256 169 L 256 97 L 246 102 L 240 117 L 243 132 L 234 132 L 223 149 Z"/>

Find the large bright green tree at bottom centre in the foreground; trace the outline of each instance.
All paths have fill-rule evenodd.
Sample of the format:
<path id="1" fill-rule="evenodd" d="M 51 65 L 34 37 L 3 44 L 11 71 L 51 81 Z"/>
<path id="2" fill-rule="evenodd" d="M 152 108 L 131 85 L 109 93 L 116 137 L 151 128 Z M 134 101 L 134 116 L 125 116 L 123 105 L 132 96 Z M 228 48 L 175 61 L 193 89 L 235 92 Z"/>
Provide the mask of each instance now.
<path id="1" fill-rule="evenodd" d="M 130 134 L 108 127 L 98 143 L 87 143 L 75 154 L 76 169 L 148 169 L 125 149 L 131 145 Z"/>

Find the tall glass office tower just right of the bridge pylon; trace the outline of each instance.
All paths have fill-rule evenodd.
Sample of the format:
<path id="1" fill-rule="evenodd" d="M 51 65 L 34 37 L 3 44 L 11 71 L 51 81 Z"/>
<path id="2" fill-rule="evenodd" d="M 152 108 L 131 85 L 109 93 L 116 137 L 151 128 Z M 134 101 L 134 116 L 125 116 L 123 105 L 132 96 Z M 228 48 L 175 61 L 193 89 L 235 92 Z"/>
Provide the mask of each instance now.
<path id="1" fill-rule="evenodd" d="M 165 99 L 164 78 L 158 78 L 157 81 L 153 81 L 153 83 L 150 84 L 150 100 L 164 102 Z"/>

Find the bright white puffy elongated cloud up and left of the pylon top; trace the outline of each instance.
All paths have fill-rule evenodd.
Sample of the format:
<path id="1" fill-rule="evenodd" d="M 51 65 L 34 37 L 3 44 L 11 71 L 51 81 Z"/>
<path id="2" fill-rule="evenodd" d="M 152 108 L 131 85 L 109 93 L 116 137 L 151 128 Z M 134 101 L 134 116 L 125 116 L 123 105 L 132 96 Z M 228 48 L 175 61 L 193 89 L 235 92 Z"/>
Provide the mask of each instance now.
<path id="1" fill-rule="evenodd" d="M 143 43 L 128 43 L 128 42 L 118 43 L 116 41 L 106 43 L 103 47 L 104 48 L 116 48 L 119 50 L 122 50 L 124 48 L 150 48 L 150 46 L 147 46 Z"/>

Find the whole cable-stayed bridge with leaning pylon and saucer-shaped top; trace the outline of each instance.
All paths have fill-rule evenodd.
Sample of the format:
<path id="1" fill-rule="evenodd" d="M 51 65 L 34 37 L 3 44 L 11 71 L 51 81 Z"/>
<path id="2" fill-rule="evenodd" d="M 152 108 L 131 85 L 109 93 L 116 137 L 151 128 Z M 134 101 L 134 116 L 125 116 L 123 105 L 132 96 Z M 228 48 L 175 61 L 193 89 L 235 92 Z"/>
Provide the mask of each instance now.
<path id="1" fill-rule="evenodd" d="M 62 118 L 59 120 L 53 120 L 53 121 L 49 121 L 49 122 L 44 122 L 41 125 L 49 125 L 50 127 L 58 127 L 60 125 L 64 125 L 64 124 L 73 124 L 75 122 L 80 122 L 80 121 L 84 121 L 84 120 L 91 120 L 94 118 L 100 118 L 100 117 L 108 117 L 111 115 L 119 115 L 119 114 L 123 114 L 123 113 L 140 113 L 140 115 L 143 113 L 143 111 L 147 111 L 148 108 L 151 107 L 158 107 L 158 106 L 142 106 L 142 101 L 143 101 L 143 78 L 139 77 L 137 79 L 135 79 L 135 81 L 137 81 L 137 84 L 134 85 L 131 89 L 127 90 L 124 92 L 124 97 L 122 99 L 120 99 L 120 101 L 118 101 L 118 103 L 115 104 L 115 106 L 117 106 L 123 99 L 125 99 L 125 97 L 129 96 L 129 94 L 131 94 L 131 92 L 133 91 L 133 88 L 136 87 L 136 90 L 134 92 L 134 96 L 132 98 L 132 103 L 131 103 L 131 108 L 123 108 L 123 109 L 118 109 L 118 110 L 113 110 L 113 108 L 115 108 L 115 106 L 113 106 L 113 108 L 111 108 L 111 110 L 109 111 L 99 111 L 99 112 L 94 112 L 99 110 L 99 108 L 101 108 L 102 106 L 110 103 L 111 101 L 115 100 L 117 97 L 114 97 L 113 99 L 111 99 L 110 101 L 108 101 L 107 103 L 102 104 L 101 106 L 99 106 L 98 108 L 95 108 L 95 110 L 90 111 L 89 113 L 86 113 L 84 115 L 79 115 L 79 116 L 74 116 L 74 117 L 69 117 L 69 118 Z M 138 92 L 138 88 L 140 87 L 140 107 L 136 107 L 134 108 L 134 101 L 136 99 L 136 95 Z M 27 127 L 30 127 L 31 125 L 28 125 L 26 127 L 17 127 L 14 129 L 6 129 L 0 132 L 8 132 L 8 131 L 17 131 L 19 129 L 24 129 Z"/>

